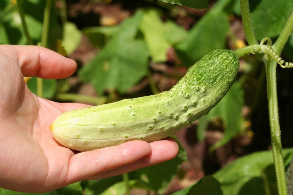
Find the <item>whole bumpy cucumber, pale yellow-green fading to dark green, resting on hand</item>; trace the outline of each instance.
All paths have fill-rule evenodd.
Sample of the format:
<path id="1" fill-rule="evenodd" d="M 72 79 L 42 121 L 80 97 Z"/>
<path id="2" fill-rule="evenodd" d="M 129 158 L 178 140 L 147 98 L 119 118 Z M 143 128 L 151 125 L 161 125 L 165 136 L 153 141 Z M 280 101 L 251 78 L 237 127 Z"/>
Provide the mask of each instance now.
<path id="1" fill-rule="evenodd" d="M 163 139 L 207 114 L 229 90 L 238 69 L 234 52 L 217 49 L 195 63 L 169 91 L 68 111 L 50 130 L 60 144 L 77 151 Z"/>

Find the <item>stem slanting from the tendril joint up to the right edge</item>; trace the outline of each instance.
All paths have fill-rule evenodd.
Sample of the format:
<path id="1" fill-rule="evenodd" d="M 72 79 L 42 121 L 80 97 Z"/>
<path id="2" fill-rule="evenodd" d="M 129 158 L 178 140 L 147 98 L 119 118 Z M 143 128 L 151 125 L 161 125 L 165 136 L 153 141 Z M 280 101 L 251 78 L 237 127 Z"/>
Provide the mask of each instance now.
<path id="1" fill-rule="evenodd" d="M 283 28 L 280 36 L 278 37 L 277 41 L 273 45 L 273 48 L 275 49 L 276 54 L 280 55 L 286 42 L 288 41 L 291 33 L 293 30 L 293 11 L 287 20 L 287 23 L 285 27 Z"/>

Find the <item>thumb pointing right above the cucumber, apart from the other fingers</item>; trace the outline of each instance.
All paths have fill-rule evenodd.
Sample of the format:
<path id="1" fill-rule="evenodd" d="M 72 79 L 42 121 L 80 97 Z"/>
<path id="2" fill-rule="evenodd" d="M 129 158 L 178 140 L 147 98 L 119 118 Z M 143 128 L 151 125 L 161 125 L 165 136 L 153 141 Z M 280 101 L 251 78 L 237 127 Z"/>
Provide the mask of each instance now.
<path id="1" fill-rule="evenodd" d="M 76 62 L 50 49 L 40 46 L 9 45 L 16 52 L 16 60 L 25 77 L 37 76 L 45 79 L 59 79 L 72 75 Z"/>

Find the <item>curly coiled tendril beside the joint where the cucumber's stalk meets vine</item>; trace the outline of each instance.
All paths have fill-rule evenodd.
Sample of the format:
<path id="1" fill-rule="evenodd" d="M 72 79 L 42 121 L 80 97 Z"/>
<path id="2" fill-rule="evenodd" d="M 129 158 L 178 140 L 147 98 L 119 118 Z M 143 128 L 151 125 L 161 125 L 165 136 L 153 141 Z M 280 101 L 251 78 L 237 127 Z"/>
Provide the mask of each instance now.
<path id="1" fill-rule="evenodd" d="M 268 42 L 266 45 L 265 42 Z M 275 50 L 271 46 L 272 40 L 269 37 L 265 37 L 260 42 L 260 50 L 270 55 L 282 68 L 293 68 L 292 62 L 285 62 L 282 58 L 276 54 Z M 285 63 L 285 65 L 283 65 Z"/>

